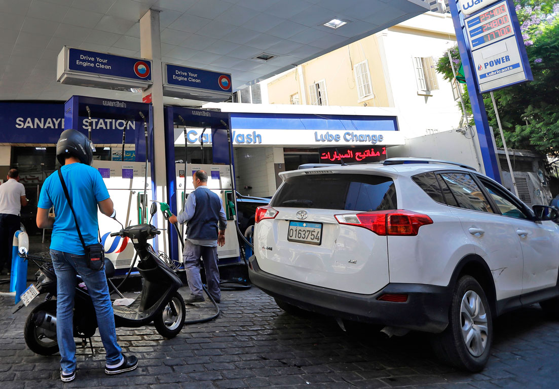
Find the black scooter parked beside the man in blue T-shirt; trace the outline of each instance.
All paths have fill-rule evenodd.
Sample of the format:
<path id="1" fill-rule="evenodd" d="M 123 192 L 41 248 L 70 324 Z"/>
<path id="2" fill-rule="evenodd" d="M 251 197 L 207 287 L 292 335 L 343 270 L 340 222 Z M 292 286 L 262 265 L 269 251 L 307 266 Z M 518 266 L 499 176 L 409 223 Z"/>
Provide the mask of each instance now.
<path id="1" fill-rule="evenodd" d="M 155 211 L 157 207 L 152 207 L 152 215 Z M 137 328 L 153 321 L 160 335 L 164 338 L 174 338 L 184 325 L 186 307 L 178 292 L 182 287 L 181 279 L 148 243 L 149 239 L 159 233 L 160 231 L 151 224 L 138 224 L 111 234 L 130 238 L 140 258 L 137 269 L 144 279 L 141 293 L 134 302 L 129 306 L 113 305 L 112 308 L 116 327 Z M 52 299 L 56 297 L 56 275 L 51 261 L 32 255 L 27 255 L 27 259 L 39 266 L 36 273 L 37 282 L 22 294 L 22 302 L 14 312 L 24 304 L 29 304 L 35 297 L 46 294 L 44 302 L 35 307 L 27 317 L 23 334 L 25 343 L 32 351 L 41 355 L 52 355 L 59 351 L 56 341 L 56 301 Z M 115 268 L 108 259 L 105 259 L 105 273 L 107 279 L 115 274 Z M 79 275 L 75 284 L 74 337 L 81 338 L 83 345 L 89 338 L 91 345 L 91 337 L 97 330 L 93 302 Z M 120 294 L 118 290 L 116 292 Z"/>

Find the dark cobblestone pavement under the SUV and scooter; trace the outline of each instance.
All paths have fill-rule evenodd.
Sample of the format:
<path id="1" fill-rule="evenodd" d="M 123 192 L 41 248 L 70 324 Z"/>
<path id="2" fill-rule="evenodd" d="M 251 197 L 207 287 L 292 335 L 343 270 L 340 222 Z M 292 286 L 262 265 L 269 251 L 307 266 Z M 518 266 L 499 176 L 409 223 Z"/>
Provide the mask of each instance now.
<path id="1" fill-rule="evenodd" d="M 22 331 L 30 308 L 12 315 L 12 299 L 0 296 L 2 389 L 559 388 L 559 322 L 548 321 L 536 306 L 498 318 L 487 368 L 467 374 L 439 363 L 428 335 L 348 335 L 331 318 L 284 313 L 256 288 L 223 292 L 219 318 L 185 327 L 175 339 L 163 339 L 151 326 L 117 330 L 124 351 L 138 355 L 134 372 L 106 376 L 98 337 L 94 355 L 78 345 L 77 378 L 63 384 L 58 354 L 43 357 L 27 349 Z M 209 313 L 208 307 L 188 310 Z"/>

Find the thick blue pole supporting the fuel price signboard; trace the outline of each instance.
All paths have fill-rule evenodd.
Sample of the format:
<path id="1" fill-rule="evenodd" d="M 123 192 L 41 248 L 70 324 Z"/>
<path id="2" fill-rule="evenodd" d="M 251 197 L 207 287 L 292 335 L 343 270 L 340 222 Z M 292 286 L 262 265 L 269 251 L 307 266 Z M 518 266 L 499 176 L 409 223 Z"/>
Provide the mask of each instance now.
<path id="1" fill-rule="evenodd" d="M 470 51 L 466 46 L 466 37 L 464 35 L 464 19 L 461 13 L 458 13 L 458 3 L 451 1 L 449 3 L 451 8 L 452 21 L 454 23 L 454 30 L 456 30 L 456 41 L 458 44 L 458 51 L 462 58 L 462 66 L 464 68 L 464 76 L 466 78 L 466 85 L 468 86 L 468 93 L 470 95 L 470 104 L 472 106 L 473 121 L 476 124 L 476 131 L 481 149 L 481 158 L 484 162 L 485 174 L 497 182 L 501 182 L 499 173 L 499 164 L 493 146 L 493 134 L 487 122 L 487 112 L 485 111 L 484 99 L 477 89 L 475 83 L 475 71 L 473 69 L 472 58 Z"/>

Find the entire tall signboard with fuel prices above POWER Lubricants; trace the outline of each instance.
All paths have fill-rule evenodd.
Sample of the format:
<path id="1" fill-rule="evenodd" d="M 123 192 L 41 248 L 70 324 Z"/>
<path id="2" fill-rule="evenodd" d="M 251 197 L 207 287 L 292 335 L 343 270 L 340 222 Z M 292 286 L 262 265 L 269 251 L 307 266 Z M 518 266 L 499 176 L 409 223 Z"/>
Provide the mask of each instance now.
<path id="1" fill-rule="evenodd" d="M 472 1 L 473 5 L 465 10 L 465 3 L 471 4 Z M 471 14 L 464 21 L 465 35 L 470 45 L 480 92 L 532 80 L 513 4 L 508 0 L 496 3 L 490 0 L 485 0 L 485 3 L 482 0 L 476 3 L 477 1 L 461 0 L 460 4 L 462 12 Z M 475 12 L 480 9 L 481 11 Z"/>

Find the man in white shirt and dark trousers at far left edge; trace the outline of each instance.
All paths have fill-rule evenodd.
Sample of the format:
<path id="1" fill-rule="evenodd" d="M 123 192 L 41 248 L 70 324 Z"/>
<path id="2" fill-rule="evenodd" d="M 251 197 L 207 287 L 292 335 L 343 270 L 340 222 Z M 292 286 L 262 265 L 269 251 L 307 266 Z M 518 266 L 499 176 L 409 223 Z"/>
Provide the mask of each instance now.
<path id="1" fill-rule="evenodd" d="M 0 271 L 3 274 L 9 274 L 12 268 L 13 235 L 20 229 L 21 207 L 28 203 L 17 169 L 8 171 L 6 178 L 0 185 Z"/>

